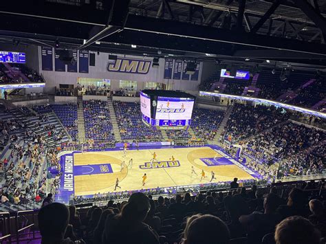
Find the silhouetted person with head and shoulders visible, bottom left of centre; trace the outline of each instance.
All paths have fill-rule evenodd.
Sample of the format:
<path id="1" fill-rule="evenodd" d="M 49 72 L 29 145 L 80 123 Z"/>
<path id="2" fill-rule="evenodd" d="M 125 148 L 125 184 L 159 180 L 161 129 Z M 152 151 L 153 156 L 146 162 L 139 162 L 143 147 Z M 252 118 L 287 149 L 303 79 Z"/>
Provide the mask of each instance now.
<path id="1" fill-rule="evenodd" d="M 133 193 L 120 214 L 107 218 L 102 242 L 158 244 L 157 234 L 143 222 L 149 209 L 149 198 L 142 192 Z"/>

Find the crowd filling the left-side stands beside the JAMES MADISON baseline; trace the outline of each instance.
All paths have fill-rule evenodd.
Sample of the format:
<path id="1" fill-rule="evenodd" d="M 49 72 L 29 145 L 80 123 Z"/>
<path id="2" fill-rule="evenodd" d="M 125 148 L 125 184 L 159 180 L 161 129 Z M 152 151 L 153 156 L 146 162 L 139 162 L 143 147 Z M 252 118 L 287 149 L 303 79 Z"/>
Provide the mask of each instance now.
<path id="1" fill-rule="evenodd" d="M 35 204 L 45 197 L 47 166 L 60 167 L 56 149 L 48 145 L 43 135 L 36 133 L 39 129 L 53 130 L 51 125 L 43 125 L 46 120 L 46 116 L 40 115 L 39 122 L 33 125 L 34 130 L 18 118 L 0 120 L 3 137 L 10 139 L 5 143 L 6 148 L 1 148 L 3 178 L 0 178 L 0 196 L 3 208 L 10 209 L 11 204 L 25 205 L 26 209 L 36 208 Z M 6 210 L 3 208 L 1 210 Z"/>

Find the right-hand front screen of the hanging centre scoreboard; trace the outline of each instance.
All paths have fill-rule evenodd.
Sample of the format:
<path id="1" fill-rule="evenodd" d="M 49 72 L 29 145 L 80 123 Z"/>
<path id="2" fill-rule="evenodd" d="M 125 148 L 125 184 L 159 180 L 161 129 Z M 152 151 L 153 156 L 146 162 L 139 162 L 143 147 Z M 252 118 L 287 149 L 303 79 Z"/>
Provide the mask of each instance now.
<path id="1" fill-rule="evenodd" d="M 188 126 L 193 114 L 193 98 L 157 98 L 155 125 Z"/>

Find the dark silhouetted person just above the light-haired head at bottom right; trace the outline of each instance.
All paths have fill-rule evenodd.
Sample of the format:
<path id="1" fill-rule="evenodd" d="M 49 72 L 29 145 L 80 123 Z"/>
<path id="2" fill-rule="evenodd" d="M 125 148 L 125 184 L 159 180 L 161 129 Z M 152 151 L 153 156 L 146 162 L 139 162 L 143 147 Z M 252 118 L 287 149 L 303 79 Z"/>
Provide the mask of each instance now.
<path id="1" fill-rule="evenodd" d="M 281 214 L 283 219 L 294 215 L 308 217 L 309 210 L 307 209 L 306 204 L 307 197 L 305 192 L 299 188 L 292 188 L 289 196 L 287 197 L 287 205 L 280 206 L 277 212 Z"/>

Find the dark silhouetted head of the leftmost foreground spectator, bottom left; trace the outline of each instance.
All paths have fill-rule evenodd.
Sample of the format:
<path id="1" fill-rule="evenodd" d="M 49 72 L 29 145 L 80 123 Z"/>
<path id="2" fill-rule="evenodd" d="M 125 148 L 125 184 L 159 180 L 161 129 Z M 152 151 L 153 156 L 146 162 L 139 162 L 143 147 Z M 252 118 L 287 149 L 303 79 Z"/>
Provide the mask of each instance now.
<path id="1" fill-rule="evenodd" d="M 42 244 L 74 243 L 70 239 L 64 239 L 69 220 L 67 206 L 62 203 L 50 203 L 41 208 L 38 218 Z"/>

